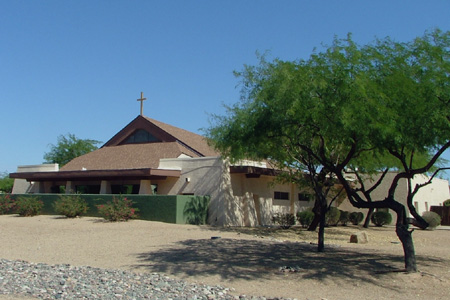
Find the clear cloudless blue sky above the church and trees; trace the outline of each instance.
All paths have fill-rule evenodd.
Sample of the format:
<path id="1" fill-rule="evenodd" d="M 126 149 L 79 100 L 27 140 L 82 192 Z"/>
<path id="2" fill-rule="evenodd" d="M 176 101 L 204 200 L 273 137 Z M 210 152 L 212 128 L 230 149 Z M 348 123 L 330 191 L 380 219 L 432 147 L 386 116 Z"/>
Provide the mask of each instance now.
<path id="1" fill-rule="evenodd" d="M 108 141 L 148 117 L 193 132 L 239 100 L 234 70 L 450 30 L 448 0 L 0 0 L 0 172 L 39 164 L 58 135 Z M 446 157 L 450 159 L 449 153 Z"/>

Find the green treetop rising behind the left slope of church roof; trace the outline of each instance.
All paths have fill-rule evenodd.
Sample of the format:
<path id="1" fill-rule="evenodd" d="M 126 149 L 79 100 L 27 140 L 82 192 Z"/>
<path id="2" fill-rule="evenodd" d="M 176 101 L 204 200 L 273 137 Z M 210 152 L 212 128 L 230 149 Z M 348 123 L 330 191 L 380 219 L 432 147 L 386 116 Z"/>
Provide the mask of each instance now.
<path id="1" fill-rule="evenodd" d="M 46 163 L 57 163 L 60 166 L 67 164 L 75 157 L 97 149 L 101 142 L 89 139 L 79 139 L 74 134 L 60 135 L 56 145 L 51 145 L 50 152 L 44 154 Z"/>

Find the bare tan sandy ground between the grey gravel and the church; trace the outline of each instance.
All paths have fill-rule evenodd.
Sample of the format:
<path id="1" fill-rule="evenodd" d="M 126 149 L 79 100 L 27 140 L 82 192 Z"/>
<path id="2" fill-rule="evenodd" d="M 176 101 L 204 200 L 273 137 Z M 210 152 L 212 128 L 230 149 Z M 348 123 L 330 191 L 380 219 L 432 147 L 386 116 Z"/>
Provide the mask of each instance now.
<path id="1" fill-rule="evenodd" d="M 0 257 L 135 272 L 234 288 L 234 294 L 297 299 L 450 299 L 450 230 L 414 231 L 419 273 L 403 268 L 393 227 L 354 226 L 317 234 L 301 228 L 218 228 L 133 220 L 0 216 Z M 212 239 L 212 237 L 220 237 Z M 279 271 L 282 266 L 300 272 Z M 0 299 L 12 299 L 0 296 Z"/>

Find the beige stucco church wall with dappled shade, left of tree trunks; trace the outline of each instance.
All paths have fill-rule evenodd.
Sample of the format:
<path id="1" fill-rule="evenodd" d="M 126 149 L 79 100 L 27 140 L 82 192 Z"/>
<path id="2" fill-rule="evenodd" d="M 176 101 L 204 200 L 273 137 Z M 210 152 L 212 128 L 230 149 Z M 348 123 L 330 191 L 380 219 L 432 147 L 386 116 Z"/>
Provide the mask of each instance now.
<path id="1" fill-rule="evenodd" d="M 292 184 L 271 184 L 272 176 L 247 178 L 245 174 L 230 174 L 229 166 L 220 157 L 162 159 L 160 169 L 181 170 L 181 176 L 152 182 L 158 184 L 160 194 L 210 196 L 211 225 L 270 225 L 274 213 L 295 214 L 313 204 L 298 201 L 299 190 Z M 288 192 L 291 199 L 273 200 L 274 191 Z"/>

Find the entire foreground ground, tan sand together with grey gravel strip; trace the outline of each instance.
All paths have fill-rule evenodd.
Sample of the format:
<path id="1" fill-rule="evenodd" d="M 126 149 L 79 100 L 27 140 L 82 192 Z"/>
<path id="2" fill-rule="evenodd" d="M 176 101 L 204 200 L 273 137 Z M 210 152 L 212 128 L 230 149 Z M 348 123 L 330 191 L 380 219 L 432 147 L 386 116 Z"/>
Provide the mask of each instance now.
<path id="1" fill-rule="evenodd" d="M 414 232 L 419 273 L 393 227 L 213 228 L 0 216 L 0 299 L 448 299 L 450 231 Z"/>

